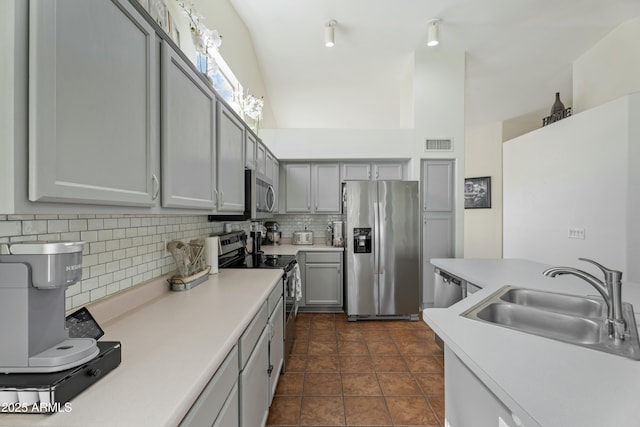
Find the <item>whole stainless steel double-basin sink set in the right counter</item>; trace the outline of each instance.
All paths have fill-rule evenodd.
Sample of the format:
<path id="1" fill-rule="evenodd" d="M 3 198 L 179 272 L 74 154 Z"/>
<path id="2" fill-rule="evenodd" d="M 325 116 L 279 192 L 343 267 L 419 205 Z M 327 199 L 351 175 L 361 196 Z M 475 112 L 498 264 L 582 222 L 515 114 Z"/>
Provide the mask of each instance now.
<path id="1" fill-rule="evenodd" d="M 625 340 L 609 338 L 607 304 L 601 298 L 504 286 L 461 314 L 493 325 L 640 360 L 633 306 L 622 304 Z"/>

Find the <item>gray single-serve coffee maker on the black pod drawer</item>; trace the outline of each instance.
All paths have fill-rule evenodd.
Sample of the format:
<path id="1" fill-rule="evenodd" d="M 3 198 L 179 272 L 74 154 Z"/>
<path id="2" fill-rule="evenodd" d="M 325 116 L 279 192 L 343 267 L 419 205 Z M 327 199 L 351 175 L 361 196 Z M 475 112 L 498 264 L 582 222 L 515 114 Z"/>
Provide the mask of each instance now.
<path id="1" fill-rule="evenodd" d="M 58 372 L 99 353 L 69 338 L 65 290 L 82 278 L 83 242 L 0 244 L 0 372 Z"/>

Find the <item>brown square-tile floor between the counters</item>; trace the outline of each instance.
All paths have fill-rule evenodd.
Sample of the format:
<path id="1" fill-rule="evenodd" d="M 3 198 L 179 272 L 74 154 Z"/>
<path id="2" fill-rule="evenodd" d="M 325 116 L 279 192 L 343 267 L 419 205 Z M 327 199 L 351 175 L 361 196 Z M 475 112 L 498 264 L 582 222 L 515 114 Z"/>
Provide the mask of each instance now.
<path id="1" fill-rule="evenodd" d="M 444 356 L 422 321 L 299 313 L 268 426 L 442 426 Z"/>

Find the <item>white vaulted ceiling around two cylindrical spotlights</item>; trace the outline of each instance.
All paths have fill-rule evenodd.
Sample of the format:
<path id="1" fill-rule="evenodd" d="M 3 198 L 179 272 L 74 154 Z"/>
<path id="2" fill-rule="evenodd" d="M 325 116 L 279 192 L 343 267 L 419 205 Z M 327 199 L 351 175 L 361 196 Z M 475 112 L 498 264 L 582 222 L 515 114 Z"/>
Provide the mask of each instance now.
<path id="1" fill-rule="evenodd" d="M 640 15 L 637 0 L 230 1 L 282 128 L 400 127 L 401 87 L 434 17 L 435 49 L 466 53 L 467 128 L 548 108 L 555 92 L 570 104 L 572 62 Z"/>

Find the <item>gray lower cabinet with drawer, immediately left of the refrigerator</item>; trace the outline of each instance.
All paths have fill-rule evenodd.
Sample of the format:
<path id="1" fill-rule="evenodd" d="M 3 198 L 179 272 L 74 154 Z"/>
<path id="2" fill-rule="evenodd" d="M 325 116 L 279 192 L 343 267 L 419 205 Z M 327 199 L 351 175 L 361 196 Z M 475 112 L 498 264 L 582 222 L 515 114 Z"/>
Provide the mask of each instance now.
<path id="1" fill-rule="evenodd" d="M 305 307 L 342 307 L 342 252 L 306 252 L 303 288 Z"/>

